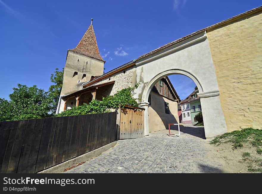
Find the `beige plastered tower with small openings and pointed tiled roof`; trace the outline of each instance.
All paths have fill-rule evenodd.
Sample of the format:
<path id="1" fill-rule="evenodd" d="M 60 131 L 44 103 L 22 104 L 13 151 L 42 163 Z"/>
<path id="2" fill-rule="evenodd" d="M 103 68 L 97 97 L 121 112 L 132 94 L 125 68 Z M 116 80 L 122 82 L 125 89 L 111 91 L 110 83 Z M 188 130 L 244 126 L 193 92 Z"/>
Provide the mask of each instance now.
<path id="1" fill-rule="evenodd" d="M 82 83 L 90 81 L 91 76 L 103 75 L 105 61 L 99 53 L 92 21 L 77 47 L 67 51 L 60 96 L 81 90 Z"/>

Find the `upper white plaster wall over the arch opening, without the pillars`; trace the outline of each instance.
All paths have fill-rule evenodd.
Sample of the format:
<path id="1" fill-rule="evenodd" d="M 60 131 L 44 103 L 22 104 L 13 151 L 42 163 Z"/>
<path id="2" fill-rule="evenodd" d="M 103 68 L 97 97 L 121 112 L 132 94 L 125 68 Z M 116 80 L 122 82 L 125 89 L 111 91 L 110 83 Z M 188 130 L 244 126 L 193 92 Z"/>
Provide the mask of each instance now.
<path id="1" fill-rule="evenodd" d="M 205 37 L 205 34 L 202 34 L 201 37 Z M 197 39 L 199 37 L 195 38 Z M 185 46 L 181 50 L 176 50 L 174 52 L 171 50 L 172 48 L 169 48 L 170 53 L 166 55 L 163 54 L 162 56 L 159 56 L 161 53 L 158 53 L 155 54 L 155 58 L 151 56 L 148 59 L 137 61 L 137 74 L 140 72 L 142 75 L 141 77 L 143 78 L 141 88 L 138 89 L 138 91 L 140 91 L 137 91 L 137 93 L 141 93 L 146 84 L 156 75 L 173 69 L 181 69 L 193 74 L 198 78 L 203 89 L 202 92 L 218 90 L 215 69 L 208 40 L 206 38 L 201 39 L 199 42 L 195 42 L 190 46 Z M 140 77 L 137 77 L 136 81 L 141 81 L 138 78 Z M 199 92 L 201 92 L 201 88 L 199 89 Z M 143 100 L 144 99 L 142 99 L 142 101 Z"/>

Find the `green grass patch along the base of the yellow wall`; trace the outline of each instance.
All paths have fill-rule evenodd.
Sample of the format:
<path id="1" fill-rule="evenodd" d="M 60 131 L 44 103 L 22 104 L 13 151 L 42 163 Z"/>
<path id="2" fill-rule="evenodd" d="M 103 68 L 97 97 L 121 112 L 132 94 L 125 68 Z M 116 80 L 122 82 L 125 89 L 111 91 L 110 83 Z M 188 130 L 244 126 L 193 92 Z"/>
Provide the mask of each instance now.
<path id="1" fill-rule="evenodd" d="M 222 143 L 232 143 L 234 149 L 243 147 L 243 143 L 249 142 L 252 146 L 262 146 L 262 130 L 245 128 L 230 133 L 224 133 L 216 136 L 210 144 L 220 145 Z M 261 149 L 259 149 L 261 150 Z"/>

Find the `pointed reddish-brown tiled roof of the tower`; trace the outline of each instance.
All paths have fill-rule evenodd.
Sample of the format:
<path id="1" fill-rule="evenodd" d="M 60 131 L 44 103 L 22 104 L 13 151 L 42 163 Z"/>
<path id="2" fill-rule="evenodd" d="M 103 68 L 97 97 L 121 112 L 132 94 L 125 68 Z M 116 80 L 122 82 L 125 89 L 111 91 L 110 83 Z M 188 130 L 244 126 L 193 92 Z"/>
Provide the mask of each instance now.
<path id="1" fill-rule="evenodd" d="M 104 59 L 101 57 L 97 42 L 96 42 L 96 35 L 93 28 L 93 25 L 91 24 L 87 31 L 85 32 L 84 36 L 78 43 L 77 47 L 68 51 L 73 51 L 75 53 L 79 53 L 88 57 L 91 57 L 93 59 L 97 59 L 99 61 L 104 61 Z"/>

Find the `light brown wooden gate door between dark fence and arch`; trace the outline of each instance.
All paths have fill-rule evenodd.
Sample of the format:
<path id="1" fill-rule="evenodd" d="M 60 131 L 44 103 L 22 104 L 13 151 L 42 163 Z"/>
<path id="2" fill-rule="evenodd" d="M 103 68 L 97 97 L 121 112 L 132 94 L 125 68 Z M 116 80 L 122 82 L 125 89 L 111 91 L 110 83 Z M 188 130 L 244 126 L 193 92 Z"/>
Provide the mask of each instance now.
<path id="1" fill-rule="evenodd" d="M 144 110 L 122 108 L 119 139 L 144 137 Z"/>

